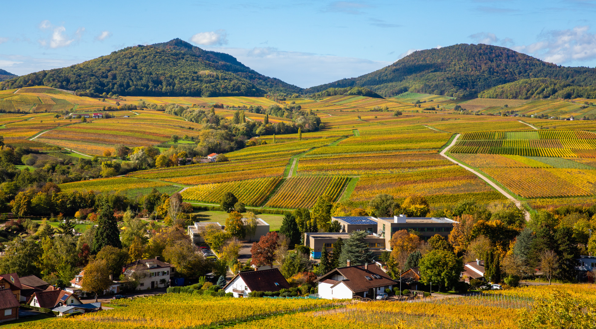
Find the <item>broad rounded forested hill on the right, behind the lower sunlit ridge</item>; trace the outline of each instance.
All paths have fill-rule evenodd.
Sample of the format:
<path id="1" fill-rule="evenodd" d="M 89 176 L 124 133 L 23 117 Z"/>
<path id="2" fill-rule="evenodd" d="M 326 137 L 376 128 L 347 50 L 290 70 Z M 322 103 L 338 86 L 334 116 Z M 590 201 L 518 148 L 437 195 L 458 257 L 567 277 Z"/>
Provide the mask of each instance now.
<path id="1" fill-rule="evenodd" d="M 386 97 L 410 91 L 470 98 L 500 84 L 539 77 L 589 86 L 596 84 L 596 69 L 561 67 L 504 47 L 461 43 L 416 51 L 364 76 L 322 84 L 305 92 L 361 86 Z"/>

